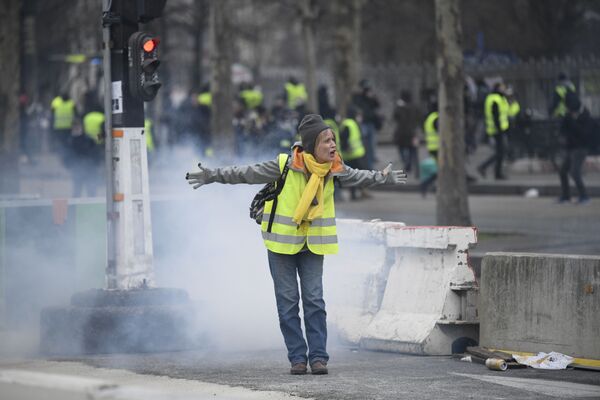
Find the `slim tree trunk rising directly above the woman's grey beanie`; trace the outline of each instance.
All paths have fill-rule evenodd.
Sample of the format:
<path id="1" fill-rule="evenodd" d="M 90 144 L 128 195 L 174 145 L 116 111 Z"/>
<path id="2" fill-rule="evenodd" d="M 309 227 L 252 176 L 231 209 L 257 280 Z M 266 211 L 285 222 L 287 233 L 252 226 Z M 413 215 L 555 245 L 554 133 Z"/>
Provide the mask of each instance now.
<path id="1" fill-rule="evenodd" d="M 317 103 L 317 52 L 315 48 L 315 22 L 318 10 L 315 0 L 302 0 L 300 4 L 302 18 L 302 36 L 306 70 L 306 90 L 308 92 L 308 110 L 318 113 Z"/>

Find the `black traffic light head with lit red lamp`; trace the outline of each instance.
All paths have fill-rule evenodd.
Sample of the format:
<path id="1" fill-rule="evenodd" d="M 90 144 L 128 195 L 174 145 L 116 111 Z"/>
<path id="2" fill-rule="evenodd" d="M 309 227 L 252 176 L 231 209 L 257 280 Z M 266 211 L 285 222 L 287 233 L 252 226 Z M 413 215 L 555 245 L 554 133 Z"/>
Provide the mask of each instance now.
<path id="1" fill-rule="evenodd" d="M 157 37 L 146 32 L 135 32 L 129 37 L 129 92 L 142 101 L 156 97 L 162 86 L 158 80 Z"/>

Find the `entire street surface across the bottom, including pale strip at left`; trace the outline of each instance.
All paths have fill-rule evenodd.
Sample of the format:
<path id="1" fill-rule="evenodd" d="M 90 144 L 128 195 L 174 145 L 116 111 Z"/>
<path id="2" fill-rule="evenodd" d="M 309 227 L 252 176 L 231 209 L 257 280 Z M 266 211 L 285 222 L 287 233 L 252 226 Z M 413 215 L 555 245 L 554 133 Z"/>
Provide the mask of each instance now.
<path id="1" fill-rule="evenodd" d="M 325 376 L 289 375 L 282 349 L 253 352 L 206 349 L 90 356 L 59 362 L 21 361 L 12 365 L 2 362 L 0 398 L 42 398 L 36 396 L 40 388 L 46 389 L 44 398 L 51 399 L 600 398 L 598 372 L 531 368 L 498 372 L 451 357 L 410 356 L 347 347 L 330 350 L 330 374 Z M 18 376 L 15 378 L 15 370 L 27 372 L 22 373 L 19 380 Z M 40 373 L 41 376 L 37 375 Z M 12 384 L 7 383 L 10 378 Z M 182 383 L 187 387 L 182 388 Z M 65 391 L 71 397 L 61 396 Z M 6 397 L 9 393 L 24 396 Z M 75 397 L 74 393 L 87 397 Z"/>

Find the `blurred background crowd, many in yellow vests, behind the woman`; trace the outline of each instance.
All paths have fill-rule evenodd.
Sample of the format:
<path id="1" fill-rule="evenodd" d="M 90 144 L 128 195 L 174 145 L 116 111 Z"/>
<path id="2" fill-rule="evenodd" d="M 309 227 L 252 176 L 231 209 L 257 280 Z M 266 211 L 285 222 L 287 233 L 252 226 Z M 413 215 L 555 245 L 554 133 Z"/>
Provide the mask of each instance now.
<path id="1" fill-rule="evenodd" d="M 438 132 L 438 103 L 436 91 L 422 93 L 424 106 L 413 102 L 411 92 L 402 90 L 389 116 L 382 113 L 380 97 L 367 79 L 359 82 L 353 91 L 351 102 L 344 116 L 332 105 L 328 88 L 318 88 L 318 110 L 336 134 L 338 151 L 344 161 L 356 168 L 374 169 L 377 160 L 377 136 L 384 123 L 393 127 L 393 140 L 405 171 L 420 179 L 421 192 L 425 196 L 434 187 L 437 176 L 437 156 L 440 139 Z M 465 84 L 465 148 L 467 155 L 473 154 L 478 146 L 491 144 L 493 154 L 476 168 L 481 178 L 493 167 L 495 179 L 506 179 L 505 161 L 521 156 L 541 156 L 553 161 L 561 173 L 561 182 L 571 175 L 580 188 L 580 200 L 587 194 L 581 180 L 581 165 L 585 160 L 582 152 L 574 148 L 585 148 L 585 154 L 598 146 L 594 123 L 579 99 L 577 88 L 566 74 L 558 77 L 550 99 L 548 119 L 551 124 L 562 128 L 559 139 L 551 135 L 534 135 L 531 111 L 522 108 L 514 89 L 496 80 L 491 85 L 484 80 L 468 80 Z M 183 100 L 173 102 L 166 96 L 166 104 L 160 125 L 160 147 L 177 145 L 191 146 L 201 157 L 213 157 L 213 132 L 211 132 L 212 94 L 209 85 L 200 91 L 189 93 Z M 235 154 L 244 159 L 260 159 L 265 155 L 289 152 L 298 140 L 297 125 L 302 117 L 314 112 L 307 106 L 306 87 L 295 77 L 289 77 L 270 108 L 265 103 L 259 86 L 243 82 L 237 87 L 234 101 L 233 128 Z M 44 118 L 45 108 L 22 96 L 21 118 L 22 161 L 33 160 L 32 146 L 28 143 L 30 132 L 50 128 L 51 149 L 60 157 L 63 165 L 72 172 L 74 196 L 84 190 L 95 195 L 100 183 L 100 167 L 104 159 L 103 107 L 93 93 L 84 98 L 84 104 L 76 105 L 67 93 L 56 96 L 50 104 L 49 118 Z M 389 107 L 387 107 L 389 109 Z M 78 112 L 83 110 L 83 112 Z M 589 118 L 584 122 L 585 133 L 574 139 L 573 122 Z M 586 117 L 587 116 L 587 117 Z M 145 137 L 147 149 L 155 148 L 155 123 L 147 117 Z M 543 129 L 548 130 L 549 125 Z M 419 159 L 419 149 L 428 155 Z M 423 153 L 423 152 L 421 152 Z M 565 156 L 570 154 L 570 156 Z M 582 158 L 583 157 L 583 158 Z M 565 161 L 567 160 L 567 161 Z M 468 174 L 467 174 L 468 175 Z M 469 181 L 477 178 L 468 175 Z M 564 184 L 563 184 L 564 186 Z M 567 185 L 568 186 L 568 185 Z M 354 194 L 353 194 L 354 197 Z M 563 198 L 570 198 L 563 193 Z"/>

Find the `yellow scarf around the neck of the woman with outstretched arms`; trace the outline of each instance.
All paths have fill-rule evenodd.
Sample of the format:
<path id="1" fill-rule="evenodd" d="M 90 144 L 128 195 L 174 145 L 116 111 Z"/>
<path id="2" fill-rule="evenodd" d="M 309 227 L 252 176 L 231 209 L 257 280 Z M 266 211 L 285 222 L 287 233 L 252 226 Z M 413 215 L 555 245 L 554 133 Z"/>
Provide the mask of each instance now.
<path id="1" fill-rule="evenodd" d="M 312 154 L 302 153 L 302 157 L 304 165 L 311 175 L 292 217 L 292 220 L 298 225 L 301 225 L 302 221 L 313 221 L 315 218 L 323 216 L 323 186 L 325 176 L 331 169 L 330 162 L 319 164 Z M 315 198 L 317 204 L 312 205 Z"/>

